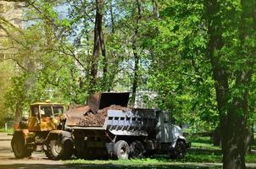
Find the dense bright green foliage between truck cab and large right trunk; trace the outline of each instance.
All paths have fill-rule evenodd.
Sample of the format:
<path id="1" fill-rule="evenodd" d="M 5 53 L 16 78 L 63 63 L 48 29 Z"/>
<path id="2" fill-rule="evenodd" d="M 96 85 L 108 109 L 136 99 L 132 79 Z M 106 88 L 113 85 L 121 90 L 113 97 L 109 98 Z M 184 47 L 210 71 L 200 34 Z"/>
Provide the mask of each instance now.
<path id="1" fill-rule="evenodd" d="M 159 107 L 170 110 L 178 123 L 210 131 L 218 125 L 218 113 L 205 58 L 203 1 L 166 1 L 165 5 L 160 19 L 151 24 L 157 35 L 147 41 L 153 51 L 148 87 L 158 91 Z"/>

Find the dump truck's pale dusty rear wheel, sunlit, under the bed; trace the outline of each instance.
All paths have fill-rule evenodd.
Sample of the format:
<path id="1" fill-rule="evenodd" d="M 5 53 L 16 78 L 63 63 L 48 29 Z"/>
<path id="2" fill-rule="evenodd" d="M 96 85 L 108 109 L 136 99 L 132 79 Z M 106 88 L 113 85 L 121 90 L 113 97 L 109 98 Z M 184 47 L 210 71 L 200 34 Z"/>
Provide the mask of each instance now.
<path id="1" fill-rule="evenodd" d="M 114 155 L 119 160 L 127 160 L 129 158 L 129 152 L 129 145 L 124 140 L 120 140 L 114 144 Z"/>

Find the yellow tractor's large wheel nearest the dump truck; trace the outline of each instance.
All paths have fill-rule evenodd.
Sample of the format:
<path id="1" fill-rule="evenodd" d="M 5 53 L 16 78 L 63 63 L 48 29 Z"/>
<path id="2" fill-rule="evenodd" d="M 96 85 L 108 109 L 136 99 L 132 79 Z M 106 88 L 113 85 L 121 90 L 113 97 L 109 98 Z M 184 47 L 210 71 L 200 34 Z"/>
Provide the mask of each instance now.
<path id="1" fill-rule="evenodd" d="M 71 139 L 61 141 L 52 139 L 47 143 L 45 155 L 51 160 L 67 160 L 73 155 L 73 142 Z"/>

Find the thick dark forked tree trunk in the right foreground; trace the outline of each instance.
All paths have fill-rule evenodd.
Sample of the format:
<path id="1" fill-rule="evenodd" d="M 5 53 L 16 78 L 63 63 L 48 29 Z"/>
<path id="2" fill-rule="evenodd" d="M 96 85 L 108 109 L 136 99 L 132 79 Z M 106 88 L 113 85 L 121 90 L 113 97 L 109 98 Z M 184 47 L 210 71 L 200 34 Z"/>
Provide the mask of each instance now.
<path id="1" fill-rule="evenodd" d="M 218 1 L 208 1 L 206 4 L 209 16 L 208 51 L 220 113 L 223 167 L 246 168 L 244 156 L 250 130 L 248 95 L 252 90 L 256 3 L 237 1 L 241 5 L 241 12 L 234 3 L 226 3 L 230 3 L 231 8 L 222 8 L 222 3 Z M 225 17 L 218 19 L 220 14 Z M 223 30 L 223 26 L 227 28 Z M 230 42 L 231 38 L 237 43 Z"/>

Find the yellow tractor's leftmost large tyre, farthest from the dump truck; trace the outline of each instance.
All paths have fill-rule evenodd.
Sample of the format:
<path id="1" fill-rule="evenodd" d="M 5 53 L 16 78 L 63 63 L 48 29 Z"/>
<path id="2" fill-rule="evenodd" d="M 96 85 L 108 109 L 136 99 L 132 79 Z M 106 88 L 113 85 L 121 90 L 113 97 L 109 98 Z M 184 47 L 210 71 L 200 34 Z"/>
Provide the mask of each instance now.
<path id="1" fill-rule="evenodd" d="M 11 145 L 15 158 L 20 159 L 31 156 L 32 150 L 25 147 L 25 138 L 22 133 L 14 133 Z"/>

